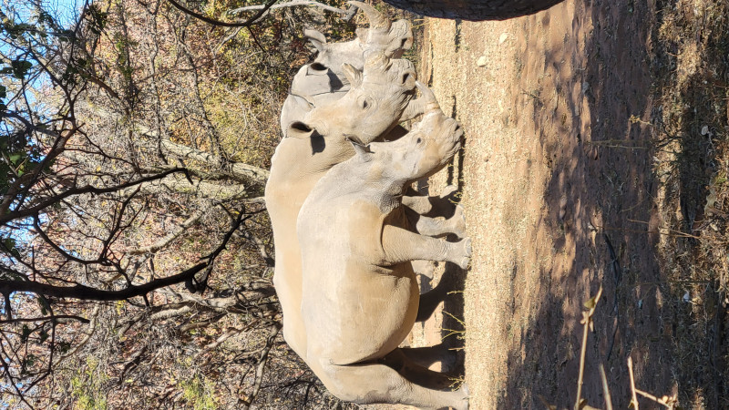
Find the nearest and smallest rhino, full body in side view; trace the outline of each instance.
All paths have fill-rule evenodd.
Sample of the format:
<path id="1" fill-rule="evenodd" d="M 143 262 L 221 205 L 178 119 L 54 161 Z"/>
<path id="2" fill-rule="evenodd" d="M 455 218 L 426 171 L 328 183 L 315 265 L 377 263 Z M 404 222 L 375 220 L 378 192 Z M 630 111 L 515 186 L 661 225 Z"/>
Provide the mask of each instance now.
<path id="1" fill-rule="evenodd" d="M 471 254 L 469 239 L 448 242 L 399 228 L 406 226 L 403 190 L 443 168 L 463 134 L 432 91 L 417 87 L 427 101 L 422 121 L 396 141 L 366 146 L 352 141 L 357 155 L 330 169 L 303 202 L 297 232 L 304 360 L 346 401 L 467 409 L 465 387 L 425 387 L 428 371 L 397 348 L 418 308 L 410 261 L 451 261 L 466 268 Z"/>

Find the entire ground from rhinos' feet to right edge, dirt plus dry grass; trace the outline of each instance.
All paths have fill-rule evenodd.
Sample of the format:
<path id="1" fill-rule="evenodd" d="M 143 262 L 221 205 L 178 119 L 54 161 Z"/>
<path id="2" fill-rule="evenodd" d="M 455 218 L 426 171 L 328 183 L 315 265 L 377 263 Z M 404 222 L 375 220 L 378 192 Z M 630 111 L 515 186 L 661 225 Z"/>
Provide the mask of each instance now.
<path id="1" fill-rule="evenodd" d="M 467 138 L 430 184 L 455 173 L 474 238 L 476 408 L 571 407 L 582 368 L 581 395 L 604 407 L 601 365 L 615 408 L 663 406 L 641 392 L 729 406 L 728 7 L 567 0 L 426 20 L 421 77 Z M 600 287 L 585 346 L 582 303 Z"/>

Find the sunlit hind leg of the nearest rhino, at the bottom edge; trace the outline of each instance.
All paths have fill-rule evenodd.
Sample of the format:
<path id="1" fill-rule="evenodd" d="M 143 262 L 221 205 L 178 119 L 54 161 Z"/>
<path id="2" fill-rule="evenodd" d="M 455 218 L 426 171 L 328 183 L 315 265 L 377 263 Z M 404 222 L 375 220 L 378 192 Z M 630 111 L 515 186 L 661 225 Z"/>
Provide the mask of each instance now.
<path id="1" fill-rule="evenodd" d="M 388 355 L 386 362 L 390 362 Z M 467 410 L 468 390 L 462 386 L 456 391 L 443 391 L 420 384 L 431 384 L 431 377 L 442 378 L 442 374 L 431 372 L 415 364 L 404 364 L 403 354 L 394 354 L 393 364 L 327 364 L 325 360 L 312 367 L 330 393 L 339 399 L 358 405 L 376 403 L 415 405 L 426 409 L 452 407 Z M 391 365 L 406 367 L 408 380 Z M 425 382 L 425 383 L 424 383 Z"/>

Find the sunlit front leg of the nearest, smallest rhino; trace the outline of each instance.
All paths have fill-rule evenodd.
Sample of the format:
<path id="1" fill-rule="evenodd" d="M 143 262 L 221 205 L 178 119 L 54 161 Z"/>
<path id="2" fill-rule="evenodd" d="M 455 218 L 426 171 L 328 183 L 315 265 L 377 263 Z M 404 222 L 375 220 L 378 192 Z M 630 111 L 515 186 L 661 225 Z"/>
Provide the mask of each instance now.
<path id="1" fill-rule="evenodd" d="M 385 263 L 405 261 L 450 261 L 467 269 L 471 260 L 471 240 L 449 242 L 420 235 L 393 225 L 385 225 L 382 234 Z"/>

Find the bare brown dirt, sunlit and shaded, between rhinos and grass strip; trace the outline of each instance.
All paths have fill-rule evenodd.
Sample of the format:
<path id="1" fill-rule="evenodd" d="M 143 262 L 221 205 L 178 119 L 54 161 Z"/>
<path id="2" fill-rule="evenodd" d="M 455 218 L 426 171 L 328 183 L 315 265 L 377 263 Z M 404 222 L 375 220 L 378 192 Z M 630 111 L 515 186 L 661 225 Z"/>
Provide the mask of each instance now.
<path id="1" fill-rule="evenodd" d="M 505 22 L 424 22 L 419 76 L 466 136 L 430 190 L 458 184 L 474 245 L 463 305 L 445 307 L 465 321 L 446 315 L 451 331 L 430 339 L 465 338 L 473 409 L 572 407 L 583 302 L 601 287 L 582 396 L 604 407 L 604 364 L 614 408 L 627 408 L 628 357 L 640 389 L 678 389 L 649 233 L 662 223 L 646 149 L 655 12 L 568 0 Z"/>

